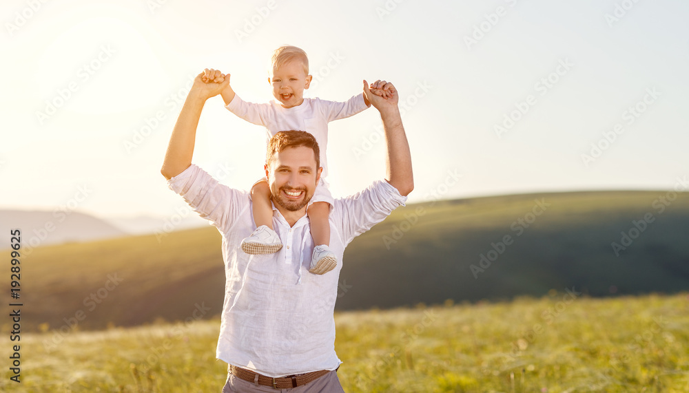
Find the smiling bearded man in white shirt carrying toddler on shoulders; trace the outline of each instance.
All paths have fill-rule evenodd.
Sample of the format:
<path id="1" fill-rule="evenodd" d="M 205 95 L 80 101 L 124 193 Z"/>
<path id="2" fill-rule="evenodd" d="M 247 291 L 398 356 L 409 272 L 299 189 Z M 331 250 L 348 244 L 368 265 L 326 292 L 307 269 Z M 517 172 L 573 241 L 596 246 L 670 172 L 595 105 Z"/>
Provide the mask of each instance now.
<path id="1" fill-rule="evenodd" d="M 384 125 L 386 178 L 335 201 L 329 220 L 331 249 L 340 262 L 325 275 L 313 275 L 308 273 L 313 239 L 306 211 L 322 171 L 318 144 L 300 131 L 271 139 L 265 173 L 274 228 L 285 246 L 274 254 L 244 253 L 240 243 L 256 229 L 249 193 L 218 184 L 192 164 L 203 105 L 229 83 L 222 74 L 212 83 L 204 83 L 202 76 L 196 76 L 187 95 L 161 173 L 169 188 L 223 235 L 225 303 L 216 352 L 229 364 L 223 392 L 342 392 L 333 310 L 345 246 L 404 204 L 413 189 L 398 93 L 391 83 L 376 81 L 369 87 L 364 81 L 364 94 Z"/>

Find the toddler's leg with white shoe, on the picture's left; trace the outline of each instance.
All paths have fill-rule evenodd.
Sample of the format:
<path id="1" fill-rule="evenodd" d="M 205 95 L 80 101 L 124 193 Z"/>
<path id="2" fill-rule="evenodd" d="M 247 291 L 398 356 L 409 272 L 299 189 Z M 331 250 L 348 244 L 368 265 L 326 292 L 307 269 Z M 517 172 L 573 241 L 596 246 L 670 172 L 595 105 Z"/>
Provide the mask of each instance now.
<path id="1" fill-rule="evenodd" d="M 251 187 L 251 201 L 256 231 L 242 241 L 242 250 L 247 254 L 271 254 L 280 251 L 282 242 L 273 230 L 273 208 L 270 204 L 268 182 L 260 180 Z"/>

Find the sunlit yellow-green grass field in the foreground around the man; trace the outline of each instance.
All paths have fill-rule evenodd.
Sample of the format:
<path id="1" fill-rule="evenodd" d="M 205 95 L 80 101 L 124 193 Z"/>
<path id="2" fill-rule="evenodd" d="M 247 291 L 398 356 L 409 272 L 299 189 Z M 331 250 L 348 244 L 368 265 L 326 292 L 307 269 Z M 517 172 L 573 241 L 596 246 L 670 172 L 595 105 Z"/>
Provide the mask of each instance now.
<path id="1" fill-rule="evenodd" d="M 688 392 L 689 295 L 336 313 L 347 392 Z M 21 337 L 3 392 L 220 392 L 219 321 Z M 46 345 L 46 342 L 50 343 Z M 7 360 L 4 361 L 7 363 Z"/>

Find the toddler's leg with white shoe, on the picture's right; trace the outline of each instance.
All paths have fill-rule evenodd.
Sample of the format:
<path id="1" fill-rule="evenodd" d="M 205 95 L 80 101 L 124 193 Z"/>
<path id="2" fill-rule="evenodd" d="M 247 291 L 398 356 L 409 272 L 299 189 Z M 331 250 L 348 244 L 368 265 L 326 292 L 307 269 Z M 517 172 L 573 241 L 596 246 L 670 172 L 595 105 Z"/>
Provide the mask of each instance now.
<path id="1" fill-rule="evenodd" d="M 307 210 L 311 221 L 311 236 L 313 236 L 313 255 L 311 256 L 311 268 L 309 272 L 322 275 L 333 270 L 338 264 L 330 246 L 330 204 L 328 202 L 313 202 Z"/>

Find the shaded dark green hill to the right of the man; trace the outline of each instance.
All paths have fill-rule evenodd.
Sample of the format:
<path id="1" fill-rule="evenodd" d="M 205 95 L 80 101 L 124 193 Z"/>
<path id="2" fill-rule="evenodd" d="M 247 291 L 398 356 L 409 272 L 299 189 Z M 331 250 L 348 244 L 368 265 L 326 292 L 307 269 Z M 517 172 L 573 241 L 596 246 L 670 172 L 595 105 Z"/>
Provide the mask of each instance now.
<path id="1" fill-rule="evenodd" d="M 542 296 L 572 287 L 592 296 L 686 290 L 689 195 L 671 193 L 670 202 L 666 194 L 543 193 L 398 209 L 347 249 L 340 277 L 352 288 L 338 306 Z M 623 240 L 623 232 L 635 238 Z"/>

